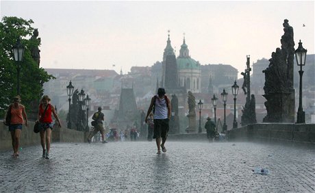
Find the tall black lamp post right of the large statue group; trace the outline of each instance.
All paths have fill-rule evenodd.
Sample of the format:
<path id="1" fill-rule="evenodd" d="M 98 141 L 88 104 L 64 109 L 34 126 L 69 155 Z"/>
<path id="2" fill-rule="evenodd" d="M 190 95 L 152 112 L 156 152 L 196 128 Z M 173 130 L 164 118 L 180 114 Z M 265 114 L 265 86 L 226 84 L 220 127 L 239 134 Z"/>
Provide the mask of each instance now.
<path id="1" fill-rule="evenodd" d="M 300 40 L 299 47 L 295 51 L 295 58 L 297 58 L 297 65 L 300 66 L 300 70 L 299 70 L 300 96 L 299 96 L 299 109 L 297 111 L 297 123 L 305 123 L 305 112 L 303 112 L 303 107 L 302 107 L 302 76 L 304 73 L 304 71 L 302 70 L 302 66 L 305 66 L 306 53 L 307 53 L 307 49 L 303 48 L 302 42 Z"/>

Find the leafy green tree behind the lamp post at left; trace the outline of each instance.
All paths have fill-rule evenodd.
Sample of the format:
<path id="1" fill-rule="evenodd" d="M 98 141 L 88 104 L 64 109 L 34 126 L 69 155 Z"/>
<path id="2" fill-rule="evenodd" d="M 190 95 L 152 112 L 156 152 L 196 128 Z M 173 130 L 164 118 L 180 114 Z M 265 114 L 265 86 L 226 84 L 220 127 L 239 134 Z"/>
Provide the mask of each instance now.
<path id="1" fill-rule="evenodd" d="M 0 23 L 0 117 L 3 117 L 12 98 L 17 95 L 17 70 L 14 61 L 12 47 L 16 40 L 21 38 L 21 43 L 25 47 L 23 62 L 21 62 L 21 99 L 26 110 L 30 104 L 38 101 L 42 97 L 43 83 L 54 79 L 52 75 L 39 68 L 38 64 L 31 57 L 31 47 L 40 46 L 39 41 L 29 40 L 34 27 L 31 19 L 28 21 L 14 16 L 3 16 Z"/>

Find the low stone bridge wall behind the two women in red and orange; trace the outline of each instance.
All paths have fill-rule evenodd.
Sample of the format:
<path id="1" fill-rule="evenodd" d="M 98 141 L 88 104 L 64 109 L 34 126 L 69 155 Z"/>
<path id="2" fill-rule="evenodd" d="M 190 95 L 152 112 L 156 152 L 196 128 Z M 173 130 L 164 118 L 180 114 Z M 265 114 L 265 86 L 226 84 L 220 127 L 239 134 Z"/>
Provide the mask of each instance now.
<path id="1" fill-rule="evenodd" d="M 23 125 L 20 146 L 40 145 L 40 134 L 33 131 L 34 122 L 29 122 L 28 127 Z M 86 142 L 88 133 L 67 129 L 64 127 L 53 127 L 52 142 Z M 12 149 L 11 133 L 8 126 L 3 125 L 0 120 L 0 151 Z"/>

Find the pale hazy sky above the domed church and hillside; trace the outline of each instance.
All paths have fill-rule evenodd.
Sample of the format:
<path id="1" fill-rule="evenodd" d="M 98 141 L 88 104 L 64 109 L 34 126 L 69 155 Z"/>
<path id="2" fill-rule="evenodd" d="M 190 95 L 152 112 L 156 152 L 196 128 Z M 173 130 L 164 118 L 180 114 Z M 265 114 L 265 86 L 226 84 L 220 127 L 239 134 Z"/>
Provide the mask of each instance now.
<path id="1" fill-rule="evenodd" d="M 162 61 L 168 30 L 201 64 L 244 70 L 281 47 L 283 20 L 314 53 L 314 1 L 0 1 L 1 18 L 31 18 L 43 68 L 123 69 Z M 305 27 L 303 27 L 305 24 Z M 113 66 L 113 64 L 115 66 Z"/>

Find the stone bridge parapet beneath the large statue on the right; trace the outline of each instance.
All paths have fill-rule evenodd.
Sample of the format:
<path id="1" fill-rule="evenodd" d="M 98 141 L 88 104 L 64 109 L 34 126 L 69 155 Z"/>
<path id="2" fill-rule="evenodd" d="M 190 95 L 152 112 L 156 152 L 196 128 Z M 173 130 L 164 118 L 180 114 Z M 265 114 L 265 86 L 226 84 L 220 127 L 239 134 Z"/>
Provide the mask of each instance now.
<path id="1" fill-rule="evenodd" d="M 315 124 L 257 123 L 228 131 L 228 139 L 315 144 Z"/>

